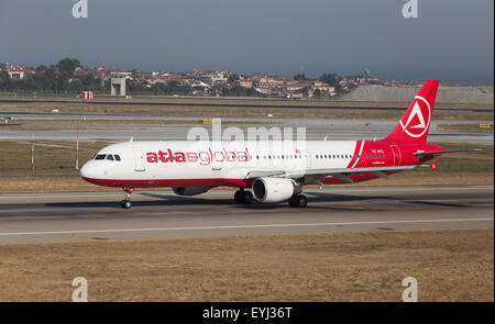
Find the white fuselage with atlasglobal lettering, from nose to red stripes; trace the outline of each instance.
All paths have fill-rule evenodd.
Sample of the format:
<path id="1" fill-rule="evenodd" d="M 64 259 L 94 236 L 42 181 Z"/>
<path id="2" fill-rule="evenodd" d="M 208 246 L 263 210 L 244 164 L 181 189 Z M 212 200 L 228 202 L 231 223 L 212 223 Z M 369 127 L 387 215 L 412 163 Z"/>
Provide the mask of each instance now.
<path id="1" fill-rule="evenodd" d="M 139 180 L 144 187 L 173 187 L 180 181 L 241 180 L 252 171 L 348 168 L 360 160 L 361 144 L 364 142 L 125 142 L 96 155 L 119 155 L 120 161 L 91 159 L 81 176 L 108 180 L 108 186 L 117 186 L 112 180 Z"/>

